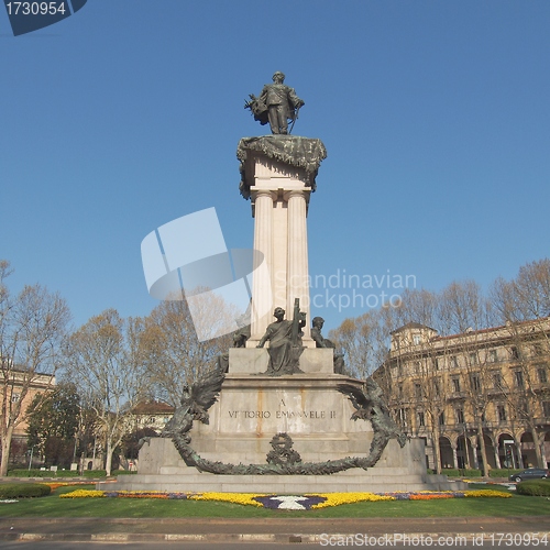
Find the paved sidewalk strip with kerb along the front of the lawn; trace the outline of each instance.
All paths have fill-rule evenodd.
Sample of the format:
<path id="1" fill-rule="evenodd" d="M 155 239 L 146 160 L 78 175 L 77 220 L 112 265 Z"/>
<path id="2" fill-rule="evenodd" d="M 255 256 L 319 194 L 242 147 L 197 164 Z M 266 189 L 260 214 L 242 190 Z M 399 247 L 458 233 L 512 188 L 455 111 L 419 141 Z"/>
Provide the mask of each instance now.
<path id="1" fill-rule="evenodd" d="M 327 536 L 465 537 L 547 534 L 550 517 L 507 518 L 0 518 L 0 540 L 317 542 Z"/>

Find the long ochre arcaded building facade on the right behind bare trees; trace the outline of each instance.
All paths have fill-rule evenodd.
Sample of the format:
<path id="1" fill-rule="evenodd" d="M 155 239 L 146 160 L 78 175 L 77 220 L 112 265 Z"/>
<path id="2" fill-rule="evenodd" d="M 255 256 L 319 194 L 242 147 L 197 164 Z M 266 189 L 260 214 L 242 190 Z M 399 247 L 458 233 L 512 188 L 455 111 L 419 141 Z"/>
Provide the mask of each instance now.
<path id="1" fill-rule="evenodd" d="M 410 322 L 374 377 L 428 468 L 550 468 L 550 318 L 449 337 Z"/>

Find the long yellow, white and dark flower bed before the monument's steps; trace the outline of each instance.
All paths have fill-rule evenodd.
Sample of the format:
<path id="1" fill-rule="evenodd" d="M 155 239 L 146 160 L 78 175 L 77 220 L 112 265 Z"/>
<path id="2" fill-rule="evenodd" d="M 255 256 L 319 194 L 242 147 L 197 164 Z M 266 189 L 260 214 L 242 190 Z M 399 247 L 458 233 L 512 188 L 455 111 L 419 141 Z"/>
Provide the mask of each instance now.
<path id="1" fill-rule="evenodd" d="M 310 510 L 381 501 L 432 501 L 438 498 L 509 498 L 501 491 L 421 491 L 417 493 L 324 493 L 311 495 L 256 495 L 254 493 L 166 493 L 162 491 L 88 491 L 77 490 L 61 498 L 162 498 L 217 501 L 271 509 Z"/>

